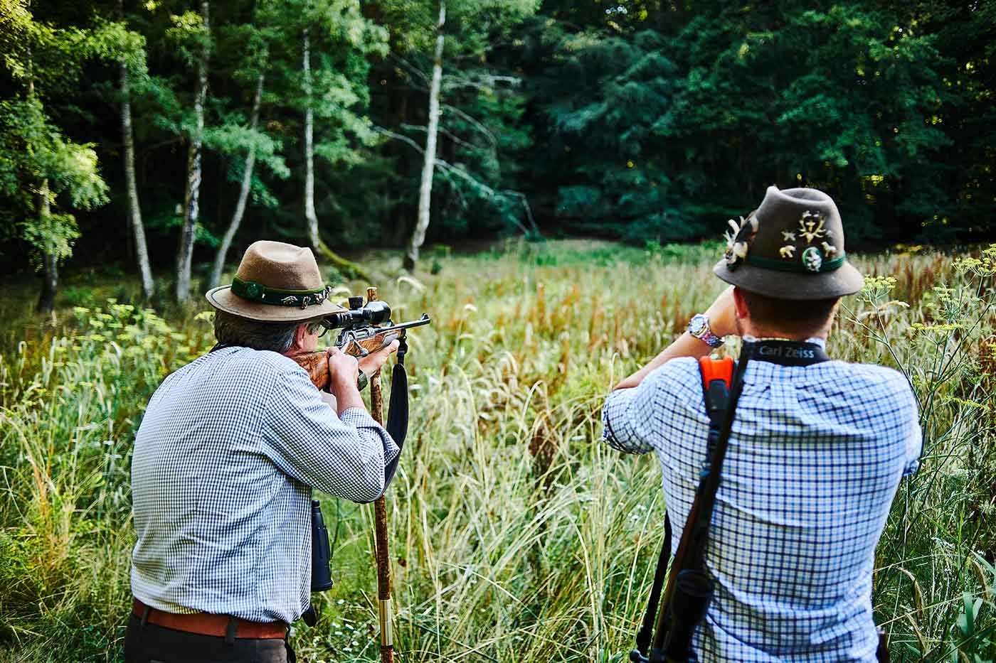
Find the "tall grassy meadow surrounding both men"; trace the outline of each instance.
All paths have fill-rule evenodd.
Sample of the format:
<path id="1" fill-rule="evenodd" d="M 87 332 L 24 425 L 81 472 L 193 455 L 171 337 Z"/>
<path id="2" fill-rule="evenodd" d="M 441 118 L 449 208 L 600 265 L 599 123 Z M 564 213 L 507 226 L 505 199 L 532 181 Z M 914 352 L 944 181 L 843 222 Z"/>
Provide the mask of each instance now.
<path id="1" fill-rule="evenodd" d="M 722 289 L 716 255 L 513 243 L 439 253 L 415 278 L 375 256 L 395 320 L 433 317 L 409 334 L 410 432 L 387 495 L 400 661 L 625 660 L 663 504 L 656 462 L 601 442 L 600 408 Z M 922 411 L 922 464 L 876 559 L 897 661 L 996 659 L 994 254 L 975 255 L 860 258 L 869 287 L 829 343 L 902 370 Z M 133 432 L 210 330 L 197 310 L 166 322 L 112 302 L 4 331 L 0 661 L 121 660 Z M 373 509 L 322 500 L 336 585 L 294 643 L 303 660 L 376 660 Z"/>

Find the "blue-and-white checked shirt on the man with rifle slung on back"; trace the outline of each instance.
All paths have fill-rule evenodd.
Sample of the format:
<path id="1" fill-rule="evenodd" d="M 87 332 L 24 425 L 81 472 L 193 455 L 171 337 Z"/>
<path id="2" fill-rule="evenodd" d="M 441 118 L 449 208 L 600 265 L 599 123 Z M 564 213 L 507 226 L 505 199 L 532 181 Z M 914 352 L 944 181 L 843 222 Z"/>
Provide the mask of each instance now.
<path id="1" fill-rule="evenodd" d="M 843 361 L 753 359 L 744 377 L 706 549 L 716 592 L 693 650 L 710 662 L 874 661 L 874 549 L 921 447 L 909 385 Z M 706 454 L 698 362 L 672 359 L 613 392 L 603 420 L 613 447 L 656 452 L 675 552 Z"/>

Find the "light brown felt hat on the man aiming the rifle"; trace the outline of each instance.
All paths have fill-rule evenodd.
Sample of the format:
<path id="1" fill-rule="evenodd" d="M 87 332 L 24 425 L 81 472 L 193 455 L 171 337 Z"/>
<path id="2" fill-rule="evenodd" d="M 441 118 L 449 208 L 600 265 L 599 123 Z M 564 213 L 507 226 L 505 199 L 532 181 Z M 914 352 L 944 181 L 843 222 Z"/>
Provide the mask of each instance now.
<path id="1" fill-rule="evenodd" d="M 232 285 L 207 291 L 218 311 L 262 323 L 298 323 L 342 307 L 329 301 L 315 255 L 307 247 L 260 240 L 242 256 Z"/>

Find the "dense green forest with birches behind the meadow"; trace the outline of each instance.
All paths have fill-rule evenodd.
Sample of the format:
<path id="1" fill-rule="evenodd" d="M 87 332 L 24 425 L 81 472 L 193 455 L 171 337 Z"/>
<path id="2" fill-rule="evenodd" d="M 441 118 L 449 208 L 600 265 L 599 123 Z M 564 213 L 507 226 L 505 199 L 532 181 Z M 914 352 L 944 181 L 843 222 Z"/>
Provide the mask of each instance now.
<path id="1" fill-rule="evenodd" d="M 853 243 L 996 229 L 996 0 L 0 0 L 0 260 L 184 301 L 260 237 L 718 236 L 820 187 Z"/>

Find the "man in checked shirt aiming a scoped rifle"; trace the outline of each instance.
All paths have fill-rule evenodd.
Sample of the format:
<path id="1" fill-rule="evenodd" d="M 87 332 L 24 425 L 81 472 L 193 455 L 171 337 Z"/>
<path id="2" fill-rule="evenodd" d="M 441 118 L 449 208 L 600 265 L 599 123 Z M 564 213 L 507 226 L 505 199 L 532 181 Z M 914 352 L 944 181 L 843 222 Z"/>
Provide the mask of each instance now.
<path id="1" fill-rule="evenodd" d="M 397 341 L 359 364 L 331 347 L 331 395 L 290 358 L 342 311 L 329 291 L 311 249 L 252 244 L 232 284 L 206 295 L 218 344 L 149 400 L 131 461 L 128 663 L 293 660 L 312 489 L 372 502 L 398 453 L 358 388 Z"/>

